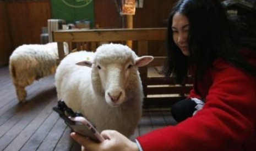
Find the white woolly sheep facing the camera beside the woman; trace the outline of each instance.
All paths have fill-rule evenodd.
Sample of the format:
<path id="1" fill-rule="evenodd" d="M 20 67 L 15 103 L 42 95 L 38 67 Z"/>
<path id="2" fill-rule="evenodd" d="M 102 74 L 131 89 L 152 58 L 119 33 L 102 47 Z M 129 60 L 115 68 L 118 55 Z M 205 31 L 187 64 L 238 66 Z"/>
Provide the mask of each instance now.
<path id="1" fill-rule="evenodd" d="M 97 130 L 117 130 L 129 137 L 142 113 L 138 67 L 152 60 L 152 56 L 138 57 L 122 44 L 104 44 L 95 53 L 71 53 L 55 74 L 58 99 L 82 113 Z"/>

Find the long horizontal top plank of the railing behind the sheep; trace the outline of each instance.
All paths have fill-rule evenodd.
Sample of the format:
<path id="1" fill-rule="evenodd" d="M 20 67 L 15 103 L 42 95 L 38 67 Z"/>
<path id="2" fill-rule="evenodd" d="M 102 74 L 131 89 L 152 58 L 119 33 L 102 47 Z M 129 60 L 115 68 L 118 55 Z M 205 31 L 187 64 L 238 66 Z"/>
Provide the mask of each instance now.
<path id="1" fill-rule="evenodd" d="M 54 31 L 55 42 L 102 42 L 123 40 L 164 40 L 166 28 L 116 28 Z"/>

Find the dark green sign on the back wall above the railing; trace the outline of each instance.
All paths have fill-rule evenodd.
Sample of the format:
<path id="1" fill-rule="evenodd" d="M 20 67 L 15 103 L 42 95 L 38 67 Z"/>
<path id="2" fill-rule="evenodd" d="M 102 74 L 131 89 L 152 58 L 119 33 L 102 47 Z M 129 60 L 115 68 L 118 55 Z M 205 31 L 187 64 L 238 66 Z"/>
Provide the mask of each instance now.
<path id="1" fill-rule="evenodd" d="M 52 19 L 63 19 L 66 23 L 88 20 L 94 27 L 93 0 L 51 0 Z"/>

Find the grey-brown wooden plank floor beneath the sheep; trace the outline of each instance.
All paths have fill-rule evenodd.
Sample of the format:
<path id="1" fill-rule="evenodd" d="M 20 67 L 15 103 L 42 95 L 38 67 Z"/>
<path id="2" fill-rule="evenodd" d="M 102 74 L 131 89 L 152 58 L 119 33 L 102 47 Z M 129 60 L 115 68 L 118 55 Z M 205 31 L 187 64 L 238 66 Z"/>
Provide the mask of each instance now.
<path id="1" fill-rule="evenodd" d="M 26 102 L 19 103 L 8 67 L 0 68 L 0 150 L 80 150 L 69 127 L 52 111 L 57 104 L 54 82 L 51 75 L 28 86 Z M 144 109 L 130 139 L 175 124 L 170 109 Z"/>

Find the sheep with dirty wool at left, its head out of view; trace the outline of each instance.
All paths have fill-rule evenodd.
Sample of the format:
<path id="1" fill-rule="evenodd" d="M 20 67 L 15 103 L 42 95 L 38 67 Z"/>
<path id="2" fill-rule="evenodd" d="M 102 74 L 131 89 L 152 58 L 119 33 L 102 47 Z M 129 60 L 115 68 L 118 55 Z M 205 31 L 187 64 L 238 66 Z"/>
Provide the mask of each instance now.
<path id="1" fill-rule="evenodd" d="M 64 51 L 68 53 L 67 43 L 64 43 Z M 57 43 L 24 44 L 13 51 L 9 72 L 20 102 L 25 101 L 26 86 L 56 72 L 57 59 Z"/>

